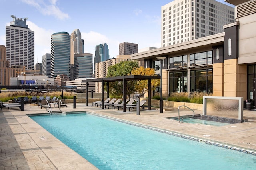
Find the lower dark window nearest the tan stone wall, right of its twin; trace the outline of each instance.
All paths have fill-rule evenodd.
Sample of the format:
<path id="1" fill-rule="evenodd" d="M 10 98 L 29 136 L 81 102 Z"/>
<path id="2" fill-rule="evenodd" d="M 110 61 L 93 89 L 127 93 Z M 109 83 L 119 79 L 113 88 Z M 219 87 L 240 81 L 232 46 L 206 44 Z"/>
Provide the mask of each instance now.
<path id="1" fill-rule="evenodd" d="M 212 93 L 212 69 L 190 71 L 190 91 Z"/>

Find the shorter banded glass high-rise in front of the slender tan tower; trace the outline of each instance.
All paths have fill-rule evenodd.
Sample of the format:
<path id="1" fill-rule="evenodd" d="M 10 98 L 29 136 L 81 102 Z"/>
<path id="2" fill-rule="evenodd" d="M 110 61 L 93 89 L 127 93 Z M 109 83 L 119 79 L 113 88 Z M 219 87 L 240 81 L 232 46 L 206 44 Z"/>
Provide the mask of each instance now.
<path id="1" fill-rule="evenodd" d="M 74 55 L 74 78 L 92 78 L 92 54 L 81 53 Z"/>

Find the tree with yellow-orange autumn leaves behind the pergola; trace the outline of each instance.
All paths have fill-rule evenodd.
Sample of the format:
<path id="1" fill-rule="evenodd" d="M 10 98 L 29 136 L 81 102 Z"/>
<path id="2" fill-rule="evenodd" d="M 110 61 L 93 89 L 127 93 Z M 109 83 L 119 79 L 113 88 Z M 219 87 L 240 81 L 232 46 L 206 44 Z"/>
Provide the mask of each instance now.
<path id="1" fill-rule="evenodd" d="M 155 70 L 153 68 L 134 68 L 131 72 L 132 75 L 141 75 L 141 76 L 154 76 Z M 160 85 L 159 79 L 153 79 L 151 80 L 151 90 L 155 90 Z M 144 94 L 148 91 L 148 80 L 138 80 L 135 84 L 135 90 L 136 92 L 141 96 L 144 96 Z"/>

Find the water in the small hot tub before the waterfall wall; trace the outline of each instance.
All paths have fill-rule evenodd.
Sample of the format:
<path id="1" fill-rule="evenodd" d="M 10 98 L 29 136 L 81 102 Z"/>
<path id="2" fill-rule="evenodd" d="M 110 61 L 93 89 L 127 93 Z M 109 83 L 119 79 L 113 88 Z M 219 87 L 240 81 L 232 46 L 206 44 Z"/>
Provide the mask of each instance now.
<path id="1" fill-rule="evenodd" d="M 168 119 L 172 119 L 172 118 L 168 118 Z M 178 121 L 178 118 L 174 118 L 174 120 Z M 181 122 L 181 118 L 180 118 L 180 122 Z M 212 126 L 230 125 L 230 123 L 223 123 L 223 122 L 217 122 L 217 121 L 208 121 L 208 120 L 202 120 L 202 119 L 193 119 L 193 118 L 184 118 L 182 122 L 192 123 L 192 124 L 212 125 Z"/>

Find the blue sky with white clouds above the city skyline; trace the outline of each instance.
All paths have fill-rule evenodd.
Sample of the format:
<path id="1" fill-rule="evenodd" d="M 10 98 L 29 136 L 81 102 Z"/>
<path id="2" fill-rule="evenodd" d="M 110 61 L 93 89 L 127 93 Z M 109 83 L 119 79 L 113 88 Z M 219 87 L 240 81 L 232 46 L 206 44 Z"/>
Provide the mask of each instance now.
<path id="1" fill-rule="evenodd" d="M 224 0 L 217 0 L 225 3 Z M 95 54 L 95 46 L 108 44 L 110 58 L 119 54 L 119 43 L 138 44 L 138 49 L 161 46 L 161 6 L 172 0 L 0 0 L 0 45 L 6 45 L 6 25 L 11 15 L 28 17 L 35 32 L 35 63 L 50 53 L 55 32 L 79 29 L 84 53 Z M 228 4 L 230 5 L 230 4 Z"/>

